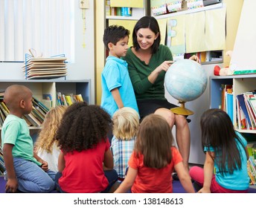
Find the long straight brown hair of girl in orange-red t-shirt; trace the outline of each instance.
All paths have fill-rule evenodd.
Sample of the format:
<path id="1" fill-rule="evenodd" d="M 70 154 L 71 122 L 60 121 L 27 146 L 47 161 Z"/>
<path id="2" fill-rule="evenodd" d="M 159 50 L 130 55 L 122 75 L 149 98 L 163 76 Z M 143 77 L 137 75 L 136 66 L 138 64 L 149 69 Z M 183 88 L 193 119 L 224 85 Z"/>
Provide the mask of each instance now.
<path id="1" fill-rule="evenodd" d="M 173 135 L 164 117 L 150 114 L 141 122 L 135 142 L 136 154 L 144 155 L 144 166 L 161 169 L 171 161 Z"/>

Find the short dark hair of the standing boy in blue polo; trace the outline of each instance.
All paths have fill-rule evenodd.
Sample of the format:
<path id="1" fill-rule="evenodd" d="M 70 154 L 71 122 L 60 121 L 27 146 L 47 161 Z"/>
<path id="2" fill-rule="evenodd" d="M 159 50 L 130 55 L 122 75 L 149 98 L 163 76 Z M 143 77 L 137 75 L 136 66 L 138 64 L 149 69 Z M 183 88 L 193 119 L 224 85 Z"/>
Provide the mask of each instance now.
<path id="1" fill-rule="evenodd" d="M 110 25 L 109 27 L 106 27 L 103 35 L 103 42 L 106 49 L 109 51 L 109 42 L 116 45 L 120 39 L 124 39 L 126 36 L 129 37 L 129 30 L 123 26 Z"/>

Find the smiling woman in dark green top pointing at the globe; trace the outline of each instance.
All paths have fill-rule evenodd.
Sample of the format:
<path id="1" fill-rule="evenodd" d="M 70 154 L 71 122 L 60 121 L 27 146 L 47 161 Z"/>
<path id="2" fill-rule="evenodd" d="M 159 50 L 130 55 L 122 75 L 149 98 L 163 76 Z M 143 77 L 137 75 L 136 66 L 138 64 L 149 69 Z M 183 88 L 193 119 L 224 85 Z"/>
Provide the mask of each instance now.
<path id="1" fill-rule="evenodd" d="M 147 114 L 160 114 L 170 127 L 176 125 L 176 142 L 188 169 L 190 154 L 190 131 L 183 115 L 173 114 L 170 108 L 176 107 L 164 97 L 164 75 L 173 63 L 173 55 L 165 45 L 160 45 L 159 24 L 153 16 L 138 20 L 133 32 L 133 47 L 129 48 L 124 59 L 128 63 L 129 77 L 135 91 L 141 119 Z M 197 56 L 191 59 L 198 61 Z"/>

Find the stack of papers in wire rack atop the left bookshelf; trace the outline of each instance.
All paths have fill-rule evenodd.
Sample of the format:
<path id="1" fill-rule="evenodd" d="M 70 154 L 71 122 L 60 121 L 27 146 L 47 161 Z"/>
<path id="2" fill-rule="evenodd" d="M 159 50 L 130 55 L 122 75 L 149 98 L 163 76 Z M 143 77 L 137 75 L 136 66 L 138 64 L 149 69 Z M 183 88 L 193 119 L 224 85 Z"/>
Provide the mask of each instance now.
<path id="1" fill-rule="evenodd" d="M 25 61 L 23 73 L 25 79 L 51 79 L 65 77 L 67 67 L 65 57 L 31 58 Z"/>

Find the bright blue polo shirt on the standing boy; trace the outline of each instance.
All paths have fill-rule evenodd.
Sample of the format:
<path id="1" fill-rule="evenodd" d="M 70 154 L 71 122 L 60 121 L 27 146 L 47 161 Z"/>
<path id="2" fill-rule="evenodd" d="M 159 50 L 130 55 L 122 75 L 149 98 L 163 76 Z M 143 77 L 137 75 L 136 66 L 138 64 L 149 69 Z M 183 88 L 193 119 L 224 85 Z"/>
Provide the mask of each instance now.
<path id="1" fill-rule="evenodd" d="M 112 117 L 118 110 L 118 105 L 112 97 L 111 91 L 118 88 L 124 107 L 130 107 L 138 111 L 131 79 L 127 69 L 127 62 L 115 56 L 106 58 L 106 65 L 101 74 L 101 107 Z"/>

